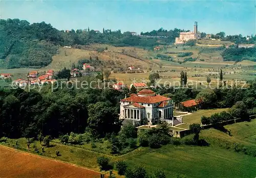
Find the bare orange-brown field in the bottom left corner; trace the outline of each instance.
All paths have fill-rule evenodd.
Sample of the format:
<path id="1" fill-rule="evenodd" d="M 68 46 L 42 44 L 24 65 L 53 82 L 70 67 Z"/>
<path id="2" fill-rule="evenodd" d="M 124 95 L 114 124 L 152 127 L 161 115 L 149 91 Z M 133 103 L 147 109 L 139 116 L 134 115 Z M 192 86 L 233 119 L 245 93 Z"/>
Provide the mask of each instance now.
<path id="1" fill-rule="evenodd" d="M 0 178 L 99 178 L 100 172 L 0 145 Z"/>

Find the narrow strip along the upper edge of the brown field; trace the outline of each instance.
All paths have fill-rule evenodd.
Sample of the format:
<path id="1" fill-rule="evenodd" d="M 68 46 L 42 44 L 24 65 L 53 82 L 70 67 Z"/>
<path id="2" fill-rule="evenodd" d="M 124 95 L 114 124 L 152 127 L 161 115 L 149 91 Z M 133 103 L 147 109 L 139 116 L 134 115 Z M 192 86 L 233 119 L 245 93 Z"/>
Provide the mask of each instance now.
<path id="1" fill-rule="evenodd" d="M 69 162 L 60 161 L 60 160 L 56 160 L 56 159 L 53 159 L 53 158 L 48 158 L 48 157 L 44 157 L 44 156 L 40 156 L 40 155 L 31 154 L 30 152 L 14 149 L 14 148 L 11 148 L 11 147 L 8 147 L 8 146 L 4 146 L 2 144 L 0 144 L 0 146 L 4 147 L 6 149 L 13 150 L 13 151 L 22 152 L 23 154 L 31 155 L 31 156 L 34 156 L 34 157 L 39 157 L 39 158 L 46 159 L 46 160 L 56 161 L 56 162 L 59 162 L 59 163 L 66 163 L 66 164 L 69 164 L 71 166 L 80 167 L 80 168 L 91 170 L 91 171 L 98 172 L 98 173 L 108 174 L 108 173 L 101 172 L 101 171 L 98 171 L 98 170 L 95 170 L 95 169 L 92 169 L 92 168 L 87 168 L 87 167 L 79 166 L 77 164 L 72 164 L 72 163 L 69 163 Z"/>

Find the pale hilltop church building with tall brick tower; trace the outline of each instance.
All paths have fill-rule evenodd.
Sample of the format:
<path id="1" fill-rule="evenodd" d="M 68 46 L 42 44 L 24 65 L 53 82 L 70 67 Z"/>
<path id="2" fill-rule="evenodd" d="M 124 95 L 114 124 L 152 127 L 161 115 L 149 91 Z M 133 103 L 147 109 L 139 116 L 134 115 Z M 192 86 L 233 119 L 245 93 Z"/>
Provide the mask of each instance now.
<path id="1" fill-rule="evenodd" d="M 197 28 L 197 21 L 194 24 L 194 32 L 180 32 L 180 37 L 175 38 L 176 44 L 183 44 L 188 40 L 196 40 L 200 37 Z"/>

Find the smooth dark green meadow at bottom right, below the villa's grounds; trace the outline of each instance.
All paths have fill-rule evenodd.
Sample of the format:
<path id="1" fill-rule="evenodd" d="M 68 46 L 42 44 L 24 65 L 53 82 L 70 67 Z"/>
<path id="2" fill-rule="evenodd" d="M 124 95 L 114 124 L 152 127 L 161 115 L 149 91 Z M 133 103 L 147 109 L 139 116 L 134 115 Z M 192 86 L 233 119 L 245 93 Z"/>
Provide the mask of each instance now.
<path id="1" fill-rule="evenodd" d="M 129 165 L 140 164 L 148 172 L 161 168 L 166 177 L 254 177 L 256 159 L 221 148 L 166 145 L 159 149 L 139 148 L 123 156 Z"/>

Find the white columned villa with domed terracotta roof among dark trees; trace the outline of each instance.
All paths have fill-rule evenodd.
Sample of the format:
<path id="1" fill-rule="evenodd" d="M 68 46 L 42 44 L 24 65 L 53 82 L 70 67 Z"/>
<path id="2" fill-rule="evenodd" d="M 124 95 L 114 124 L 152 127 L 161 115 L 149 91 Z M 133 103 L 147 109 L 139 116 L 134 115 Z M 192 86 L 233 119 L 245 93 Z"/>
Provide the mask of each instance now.
<path id="1" fill-rule="evenodd" d="M 152 124 L 152 119 L 160 119 L 174 125 L 173 107 L 172 99 L 143 89 L 120 100 L 120 119 L 132 120 L 135 125 L 141 125 L 143 118 L 147 119 L 148 125 Z"/>

